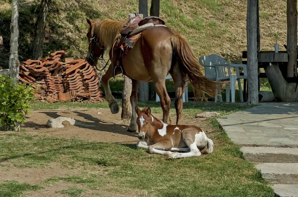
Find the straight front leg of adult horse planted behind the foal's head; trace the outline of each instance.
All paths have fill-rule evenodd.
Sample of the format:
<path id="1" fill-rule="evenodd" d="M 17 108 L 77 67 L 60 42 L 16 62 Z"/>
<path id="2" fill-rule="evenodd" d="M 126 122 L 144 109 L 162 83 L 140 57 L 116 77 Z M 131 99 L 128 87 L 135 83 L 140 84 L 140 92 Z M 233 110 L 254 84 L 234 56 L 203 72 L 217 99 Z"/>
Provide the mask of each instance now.
<path id="1" fill-rule="evenodd" d="M 130 97 L 131 104 L 132 104 L 132 117 L 131 117 L 131 123 L 127 129 L 129 132 L 136 132 L 138 130 L 137 125 L 137 115 L 136 115 L 136 105 L 138 104 L 138 90 L 139 90 L 139 84 L 140 82 L 137 80 L 132 79 L 132 94 Z"/>

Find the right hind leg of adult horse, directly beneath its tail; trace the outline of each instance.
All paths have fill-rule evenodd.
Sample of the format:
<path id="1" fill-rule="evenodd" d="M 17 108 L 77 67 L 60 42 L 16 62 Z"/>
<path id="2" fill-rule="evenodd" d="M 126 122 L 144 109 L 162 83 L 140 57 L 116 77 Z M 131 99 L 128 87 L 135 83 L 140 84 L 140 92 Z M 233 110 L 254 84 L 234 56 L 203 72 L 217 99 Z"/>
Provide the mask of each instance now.
<path id="1" fill-rule="evenodd" d="M 175 64 L 170 71 L 175 85 L 175 108 L 176 108 L 176 124 L 178 124 L 183 109 L 183 92 L 185 87 L 185 75 L 182 74 L 179 64 Z"/>

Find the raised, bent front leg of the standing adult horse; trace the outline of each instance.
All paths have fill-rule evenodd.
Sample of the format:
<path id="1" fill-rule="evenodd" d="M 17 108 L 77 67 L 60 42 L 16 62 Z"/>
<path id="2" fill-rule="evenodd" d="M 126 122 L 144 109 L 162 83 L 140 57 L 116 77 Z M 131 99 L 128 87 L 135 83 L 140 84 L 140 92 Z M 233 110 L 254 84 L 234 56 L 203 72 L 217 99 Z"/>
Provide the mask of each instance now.
<path id="1" fill-rule="evenodd" d="M 116 75 L 119 74 L 119 73 L 120 73 L 119 71 L 116 72 Z M 112 66 L 109 66 L 106 73 L 102 76 L 101 83 L 102 83 L 103 88 L 104 88 L 106 100 L 109 102 L 109 107 L 111 109 L 111 112 L 113 114 L 115 114 L 115 113 L 119 112 L 120 108 L 119 108 L 119 105 L 118 105 L 116 99 L 112 96 L 112 92 L 111 92 L 111 89 L 110 89 L 109 80 L 112 77 L 113 77 L 113 69 L 112 69 Z"/>

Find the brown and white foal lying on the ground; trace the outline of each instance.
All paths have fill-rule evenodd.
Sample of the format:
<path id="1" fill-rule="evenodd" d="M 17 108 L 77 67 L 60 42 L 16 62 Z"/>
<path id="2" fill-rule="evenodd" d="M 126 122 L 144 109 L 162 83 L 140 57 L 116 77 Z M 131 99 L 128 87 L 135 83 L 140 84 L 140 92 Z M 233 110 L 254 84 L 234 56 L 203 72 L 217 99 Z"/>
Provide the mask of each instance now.
<path id="1" fill-rule="evenodd" d="M 150 107 L 138 114 L 139 141 L 137 147 L 148 148 L 149 153 L 167 155 L 168 159 L 201 156 L 213 152 L 213 141 L 207 138 L 202 129 L 188 125 L 167 125 L 151 114 Z M 172 151 L 182 151 L 172 152 Z"/>

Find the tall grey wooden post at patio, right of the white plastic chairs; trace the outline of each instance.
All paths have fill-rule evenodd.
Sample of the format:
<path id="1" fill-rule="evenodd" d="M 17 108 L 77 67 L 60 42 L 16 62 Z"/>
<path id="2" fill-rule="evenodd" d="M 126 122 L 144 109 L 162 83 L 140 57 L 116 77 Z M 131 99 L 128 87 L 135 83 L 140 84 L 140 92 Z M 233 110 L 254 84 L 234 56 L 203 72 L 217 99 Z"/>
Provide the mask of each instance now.
<path id="1" fill-rule="evenodd" d="M 258 103 L 257 2 L 258 0 L 247 0 L 248 104 Z"/>

